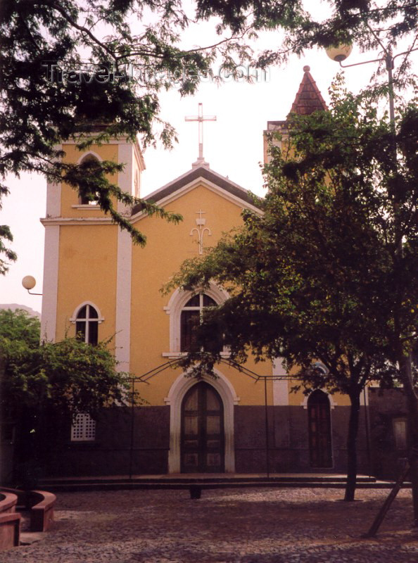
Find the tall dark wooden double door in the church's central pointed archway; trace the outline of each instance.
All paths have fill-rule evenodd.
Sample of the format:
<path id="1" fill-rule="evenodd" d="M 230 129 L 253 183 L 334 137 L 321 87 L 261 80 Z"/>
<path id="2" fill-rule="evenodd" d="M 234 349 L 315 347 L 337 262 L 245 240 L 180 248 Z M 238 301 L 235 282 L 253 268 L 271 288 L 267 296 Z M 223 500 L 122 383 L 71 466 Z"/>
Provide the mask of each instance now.
<path id="1" fill-rule="evenodd" d="M 224 472 L 224 409 L 215 389 L 201 382 L 182 403 L 182 473 Z"/>

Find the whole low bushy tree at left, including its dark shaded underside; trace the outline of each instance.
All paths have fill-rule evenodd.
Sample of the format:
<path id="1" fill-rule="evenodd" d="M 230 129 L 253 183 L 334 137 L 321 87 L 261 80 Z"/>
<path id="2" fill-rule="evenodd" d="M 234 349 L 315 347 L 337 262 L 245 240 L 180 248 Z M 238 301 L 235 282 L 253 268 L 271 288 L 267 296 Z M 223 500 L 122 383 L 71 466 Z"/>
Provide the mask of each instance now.
<path id="1" fill-rule="evenodd" d="M 45 461 L 57 428 L 79 412 L 95 418 L 103 407 L 125 405 L 129 391 L 108 342 L 39 344 L 39 337 L 36 317 L 0 310 L 0 412 L 15 421 L 15 465 L 26 470 Z"/>

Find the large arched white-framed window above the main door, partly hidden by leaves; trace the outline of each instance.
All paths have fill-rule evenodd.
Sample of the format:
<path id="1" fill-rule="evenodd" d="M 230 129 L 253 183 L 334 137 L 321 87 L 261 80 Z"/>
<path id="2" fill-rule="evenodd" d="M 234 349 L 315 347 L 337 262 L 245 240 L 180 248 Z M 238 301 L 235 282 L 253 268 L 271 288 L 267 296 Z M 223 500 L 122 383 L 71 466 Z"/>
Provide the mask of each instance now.
<path id="1" fill-rule="evenodd" d="M 200 322 L 203 309 L 219 305 L 228 297 L 227 291 L 215 284 L 210 284 L 201 292 L 176 289 L 164 308 L 167 315 L 170 315 L 170 352 L 163 353 L 163 356 L 186 353 L 187 346 L 191 343 L 193 326 Z"/>

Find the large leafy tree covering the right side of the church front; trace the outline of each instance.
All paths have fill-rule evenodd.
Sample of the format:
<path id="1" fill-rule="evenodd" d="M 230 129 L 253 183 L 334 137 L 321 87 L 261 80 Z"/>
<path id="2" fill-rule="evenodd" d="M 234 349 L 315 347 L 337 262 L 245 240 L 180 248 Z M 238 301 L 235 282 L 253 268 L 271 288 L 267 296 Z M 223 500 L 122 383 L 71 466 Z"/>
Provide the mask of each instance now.
<path id="1" fill-rule="evenodd" d="M 231 295 L 203 318 L 196 350 L 184 360 L 201 361 L 195 372 L 211 370 L 229 346 L 234 360 L 282 357 L 298 366 L 305 386 L 350 396 L 346 500 L 353 500 L 368 381 L 399 380 L 405 388 L 414 478 L 417 393 L 405 358 L 418 328 L 418 113 L 414 103 L 403 108 L 394 160 L 387 118 L 367 98 L 334 88 L 329 112 L 292 116 L 289 141 L 272 146 L 264 215 L 244 213 L 243 228 L 203 260 L 185 262 L 171 286 L 213 279 Z M 220 344 L 213 334 L 222 334 Z"/>

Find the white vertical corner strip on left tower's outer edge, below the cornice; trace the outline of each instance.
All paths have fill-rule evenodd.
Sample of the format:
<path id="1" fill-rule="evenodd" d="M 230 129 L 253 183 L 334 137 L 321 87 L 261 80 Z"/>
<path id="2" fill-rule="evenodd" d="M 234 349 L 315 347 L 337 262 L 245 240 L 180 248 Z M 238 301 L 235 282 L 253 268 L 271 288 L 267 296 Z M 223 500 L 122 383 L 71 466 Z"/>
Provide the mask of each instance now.
<path id="1" fill-rule="evenodd" d="M 42 284 L 41 339 L 55 341 L 58 298 L 60 227 L 45 225 L 44 281 Z"/>

